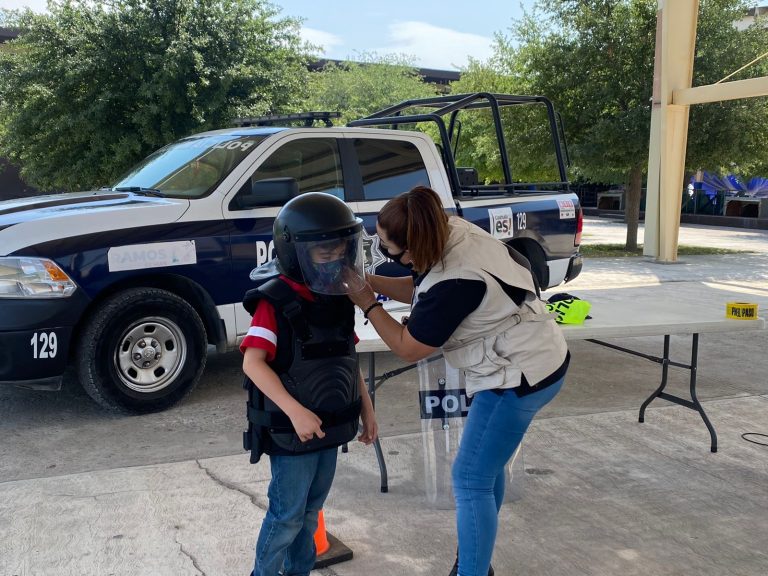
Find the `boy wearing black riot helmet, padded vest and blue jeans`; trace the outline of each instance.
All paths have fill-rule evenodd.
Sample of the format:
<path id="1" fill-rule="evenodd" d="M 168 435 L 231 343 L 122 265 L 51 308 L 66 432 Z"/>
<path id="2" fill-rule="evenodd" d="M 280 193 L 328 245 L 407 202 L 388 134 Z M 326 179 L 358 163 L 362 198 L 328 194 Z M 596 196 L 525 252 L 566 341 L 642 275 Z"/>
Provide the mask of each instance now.
<path id="1" fill-rule="evenodd" d="M 362 221 L 330 194 L 293 198 L 275 218 L 276 259 L 254 270 L 241 344 L 251 462 L 270 458 L 269 508 L 253 576 L 308 576 L 318 512 L 338 447 L 373 442 L 376 418 L 357 365 L 354 305 L 364 278 Z M 282 572 L 281 572 L 282 571 Z"/>

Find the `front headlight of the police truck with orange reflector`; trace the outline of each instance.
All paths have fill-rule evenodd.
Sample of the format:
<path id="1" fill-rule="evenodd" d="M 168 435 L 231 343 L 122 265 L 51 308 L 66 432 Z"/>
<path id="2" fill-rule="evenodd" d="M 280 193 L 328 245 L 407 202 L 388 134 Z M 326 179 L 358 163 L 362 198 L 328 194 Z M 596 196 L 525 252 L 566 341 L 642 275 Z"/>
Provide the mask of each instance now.
<path id="1" fill-rule="evenodd" d="M 0 258 L 0 298 L 66 298 L 75 283 L 47 258 Z"/>

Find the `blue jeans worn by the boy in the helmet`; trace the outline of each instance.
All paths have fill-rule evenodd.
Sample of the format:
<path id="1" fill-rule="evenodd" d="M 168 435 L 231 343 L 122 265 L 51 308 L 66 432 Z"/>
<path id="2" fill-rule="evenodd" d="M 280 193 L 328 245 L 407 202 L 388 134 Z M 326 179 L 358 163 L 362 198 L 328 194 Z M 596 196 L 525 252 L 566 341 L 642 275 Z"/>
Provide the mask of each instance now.
<path id="1" fill-rule="evenodd" d="M 269 508 L 256 542 L 252 576 L 309 576 L 315 564 L 317 515 L 331 489 L 337 454 L 337 448 L 330 448 L 269 457 Z"/>

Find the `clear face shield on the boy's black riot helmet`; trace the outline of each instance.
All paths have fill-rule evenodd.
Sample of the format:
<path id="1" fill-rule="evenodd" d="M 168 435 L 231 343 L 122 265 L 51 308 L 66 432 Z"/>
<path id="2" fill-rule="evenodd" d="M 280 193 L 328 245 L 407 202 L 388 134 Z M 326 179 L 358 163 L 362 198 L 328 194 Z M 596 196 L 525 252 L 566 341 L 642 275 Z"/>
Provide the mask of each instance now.
<path id="1" fill-rule="evenodd" d="M 350 294 L 360 291 L 365 284 L 360 232 L 323 240 L 297 240 L 296 258 L 304 283 L 312 292 Z"/>

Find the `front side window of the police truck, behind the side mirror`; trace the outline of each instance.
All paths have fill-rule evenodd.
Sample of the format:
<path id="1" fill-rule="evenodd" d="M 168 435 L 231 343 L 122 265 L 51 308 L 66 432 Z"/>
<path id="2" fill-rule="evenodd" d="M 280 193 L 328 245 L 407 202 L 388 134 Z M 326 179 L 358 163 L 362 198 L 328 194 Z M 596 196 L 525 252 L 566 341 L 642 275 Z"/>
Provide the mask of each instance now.
<path id="1" fill-rule="evenodd" d="M 326 192 L 344 199 L 344 179 L 341 173 L 339 147 L 335 138 L 293 140 L 278 148 L 251 175 L 230 204 L 239 209 L 238 197 L 248 194 L 253 182 L 271 178 L 295 178 L 299 193 Z M 264 206 L 274 206 L 269 198 Z"/>

